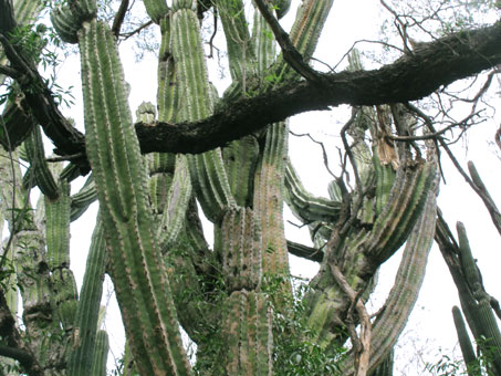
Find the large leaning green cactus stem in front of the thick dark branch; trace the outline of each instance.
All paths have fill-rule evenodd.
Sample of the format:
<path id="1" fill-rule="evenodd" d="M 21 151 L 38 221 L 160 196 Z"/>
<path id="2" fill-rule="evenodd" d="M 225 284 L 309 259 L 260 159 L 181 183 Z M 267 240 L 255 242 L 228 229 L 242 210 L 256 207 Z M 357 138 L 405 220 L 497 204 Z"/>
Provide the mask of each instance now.
<path id="1" fill-rule="evenodd" d="M 95 20 L 79 32 L 87 156 L 111 270 L 140 373 L 189 375 L 167 274 L 153 233 L 146 169 L 126 102 L 115 39 Z"/>

